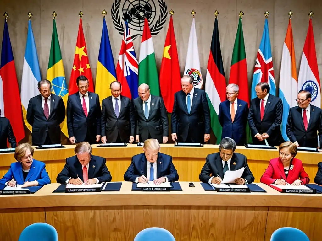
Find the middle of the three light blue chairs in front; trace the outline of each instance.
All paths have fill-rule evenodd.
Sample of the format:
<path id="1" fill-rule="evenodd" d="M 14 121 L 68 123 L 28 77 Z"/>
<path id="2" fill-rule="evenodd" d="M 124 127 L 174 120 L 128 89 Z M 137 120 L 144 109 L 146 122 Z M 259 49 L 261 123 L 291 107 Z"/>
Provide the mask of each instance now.
<path id="1" fill-rule="evenodd" d="M 175 241 L 175 237 L 164 228 L 146 228 L 135 236 L 134 241 Z"/>

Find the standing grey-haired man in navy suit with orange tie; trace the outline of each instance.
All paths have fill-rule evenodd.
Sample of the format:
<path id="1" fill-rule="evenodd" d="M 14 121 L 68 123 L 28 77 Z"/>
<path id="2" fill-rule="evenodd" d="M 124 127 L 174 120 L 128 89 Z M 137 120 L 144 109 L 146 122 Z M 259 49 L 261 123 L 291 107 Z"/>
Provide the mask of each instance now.
<path id="1" fill-rule="evenodd" d="M 239 86 L 227 85 L 226 101 L 219 104 L 218 119 L 223 127 L 222 139 L 230 137 L 238 146 L 246 144 L 246 125 L 248 117 L 248 103 L 237 99 Z"/>

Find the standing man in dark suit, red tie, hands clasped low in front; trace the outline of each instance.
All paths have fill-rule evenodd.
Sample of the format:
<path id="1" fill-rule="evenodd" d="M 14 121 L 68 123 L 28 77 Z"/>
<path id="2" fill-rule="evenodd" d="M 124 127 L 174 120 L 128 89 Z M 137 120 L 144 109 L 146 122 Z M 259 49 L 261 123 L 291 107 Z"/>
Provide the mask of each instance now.
<path id="1" fill-rule="evenodd" d="M 260 82 L 255 88 L 257 97 L 251 100 L 248 124 L 253 143 L 256 145 L 279 146 L 282 138 L 283 103 L 279 97 L 269 94 L 270 85 Z"/>

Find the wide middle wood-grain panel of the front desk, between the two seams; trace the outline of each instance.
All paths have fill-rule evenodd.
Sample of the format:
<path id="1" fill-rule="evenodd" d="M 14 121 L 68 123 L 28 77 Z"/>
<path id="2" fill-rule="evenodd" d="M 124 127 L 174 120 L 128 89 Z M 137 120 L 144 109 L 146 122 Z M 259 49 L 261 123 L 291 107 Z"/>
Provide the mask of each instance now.
<path id="1" fill-rule="evenodd" d="M 176 240 L 263 240 L 268 208 L 127 206 L 46 208 L 60 240 L 133 240 L 144 228 L 169 230 Z"/>

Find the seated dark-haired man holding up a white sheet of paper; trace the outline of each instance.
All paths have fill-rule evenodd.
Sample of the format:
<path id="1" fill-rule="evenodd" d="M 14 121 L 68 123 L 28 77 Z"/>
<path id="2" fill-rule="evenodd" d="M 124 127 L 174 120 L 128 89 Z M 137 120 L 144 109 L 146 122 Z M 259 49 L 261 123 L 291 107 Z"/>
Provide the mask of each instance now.
<path id="1" fill-rule="evenodd" d="M 235 149 L 236 143 L 232 138 L 223 138 L 219 144 L 219 152 L 206 157 L 206 163 L 199 175 L 200 181 L 220 184 L 226 171 L 239 170 L 245 167 L 241 178 L 237 178 L 235 183 L 243 185 L 254 182 L 255 178 L 248 167 L 246 156 L 234 153 Z"/>

